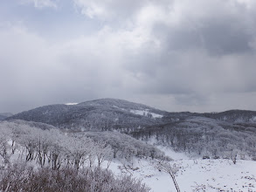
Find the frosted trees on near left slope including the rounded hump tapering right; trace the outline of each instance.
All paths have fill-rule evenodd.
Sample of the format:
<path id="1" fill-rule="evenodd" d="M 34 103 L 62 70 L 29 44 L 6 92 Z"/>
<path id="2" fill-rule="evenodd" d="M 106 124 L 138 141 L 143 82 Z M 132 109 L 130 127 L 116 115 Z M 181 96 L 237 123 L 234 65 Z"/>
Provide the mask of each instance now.
<path id="1" fill-rule="evenodd" d="M 58 129 L 39 129 L 24 121 L 0 124 L 0 157 L 8 163 L 14 154 L 18 160 L 33 161 L 43 168 L 98 167 L 113 158 L 132 161 L 134 157 L 166 158 L 156 147 L 114 132 L 64 134 Z"/>

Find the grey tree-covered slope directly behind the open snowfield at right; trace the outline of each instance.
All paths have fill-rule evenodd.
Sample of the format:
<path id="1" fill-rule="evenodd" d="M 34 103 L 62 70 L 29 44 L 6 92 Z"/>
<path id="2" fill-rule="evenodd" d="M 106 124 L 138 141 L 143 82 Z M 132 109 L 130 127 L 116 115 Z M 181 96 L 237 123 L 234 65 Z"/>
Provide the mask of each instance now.
<path id="1" fill-rule="evenodd" d="M 256 155 L 256 125 L 232 124 L 204 117 L 190 117 L 132 133 L 142 141 L 172 147 L 175 151 L 212 158 Z"/>

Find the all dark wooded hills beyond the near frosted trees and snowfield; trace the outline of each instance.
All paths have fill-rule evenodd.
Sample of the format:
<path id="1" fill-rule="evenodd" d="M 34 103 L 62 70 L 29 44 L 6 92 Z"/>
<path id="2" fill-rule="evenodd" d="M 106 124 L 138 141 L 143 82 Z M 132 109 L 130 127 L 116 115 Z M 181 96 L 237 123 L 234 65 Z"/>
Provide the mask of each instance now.
<path id="1" fill-rule="evenodd" d="M 65 131 L 114 131 L 172 147 L 177 152 L 230 158 L 254 158 L 256 112 L 168 113 L 121 99 L 97 99 L 77 105 L 41 106 L 7 120 L 31 120 Z M 235 151 L 235 152 L 233 152 Z"/>

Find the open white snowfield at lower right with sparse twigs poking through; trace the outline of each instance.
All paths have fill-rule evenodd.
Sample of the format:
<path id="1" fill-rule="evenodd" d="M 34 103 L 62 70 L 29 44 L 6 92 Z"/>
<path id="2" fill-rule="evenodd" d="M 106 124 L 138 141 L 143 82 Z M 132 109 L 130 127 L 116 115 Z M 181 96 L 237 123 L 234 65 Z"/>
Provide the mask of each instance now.
<path id="1" fill-rule="evenodd" d="M 171 157 L 175 159 L 171 163 L 176 163 L 179 167 L 176 182 L 183 192 L 256 191 L 256 161 L 238 161 L 237 164 L 233 164 L 230 160 L 220 159 L 191 160 L 184 154 L 174 152 Z M 110 169 L 117 175 L 123 172 L 142 179 L 152 191 L 176 191 L 170 175 L 154 168 L 149 160 L 137 159 L 131 167 L 126 166 L 126 170 L 121 162 L 114 161 Z"/>

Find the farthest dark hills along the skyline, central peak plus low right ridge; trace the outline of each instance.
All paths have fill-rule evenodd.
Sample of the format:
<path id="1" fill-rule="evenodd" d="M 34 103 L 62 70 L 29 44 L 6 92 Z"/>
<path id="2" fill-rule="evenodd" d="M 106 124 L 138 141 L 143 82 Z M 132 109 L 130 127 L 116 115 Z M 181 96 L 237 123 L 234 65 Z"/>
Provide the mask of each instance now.
<path id="1" fill-rule="evenodd" d="M 31 120 L 62 129 L 81 131 L 119 129 L 122 132 L 132 132 L 144 127 L 185 120 L 189 117 L 204 117 L 230 123 L 256 122 L 256 112 L 254 111 L 168 113 L 122 99 L 96 99 L 76 105 L 41 106 L 30 111 L 17 113 L 7 120 Z"/>

